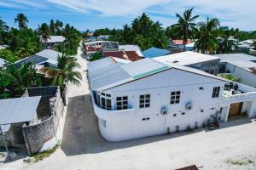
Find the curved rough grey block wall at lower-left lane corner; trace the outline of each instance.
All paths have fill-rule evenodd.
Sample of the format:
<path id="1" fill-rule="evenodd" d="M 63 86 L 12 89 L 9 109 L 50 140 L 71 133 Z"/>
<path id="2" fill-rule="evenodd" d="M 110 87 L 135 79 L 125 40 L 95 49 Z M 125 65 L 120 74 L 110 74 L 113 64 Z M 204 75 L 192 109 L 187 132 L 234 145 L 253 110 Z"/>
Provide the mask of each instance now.
<path id="1" fill-rule="evenodd" d="M 23 135 L 28 154 L 37 153 L 42 148 L 44 142 L 55 136 L 54 117 L 52 116 L 36 125 L 23 127 Z"/>

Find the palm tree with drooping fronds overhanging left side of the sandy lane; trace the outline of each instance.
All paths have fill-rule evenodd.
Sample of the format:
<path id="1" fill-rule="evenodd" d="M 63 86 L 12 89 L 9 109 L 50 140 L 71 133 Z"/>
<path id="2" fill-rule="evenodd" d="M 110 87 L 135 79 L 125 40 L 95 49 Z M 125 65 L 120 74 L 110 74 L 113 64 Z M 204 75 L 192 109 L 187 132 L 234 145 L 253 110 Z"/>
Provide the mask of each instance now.
<path id="1" fill-rule="evenodd" d="M 66 82 L 72 82 L 78 86 L 80 85 L 79 81 L 82 80 L 82 76 L 79 71 L 74 71 L 74 69 L 79 67 L 80 65 L 75 57 L 62 54 L 58 56 L 57 68 L 47 67 L 44 73 L 46 77 L 52 78 L 52 85 L 60 86 L 61 90 L 63 90 Z"/>

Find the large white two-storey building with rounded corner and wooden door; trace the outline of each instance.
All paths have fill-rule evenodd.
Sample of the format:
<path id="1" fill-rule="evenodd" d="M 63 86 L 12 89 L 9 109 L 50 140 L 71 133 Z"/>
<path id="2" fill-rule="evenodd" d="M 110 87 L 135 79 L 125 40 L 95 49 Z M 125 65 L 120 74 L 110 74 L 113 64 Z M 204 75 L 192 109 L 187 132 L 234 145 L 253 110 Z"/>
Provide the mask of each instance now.
<path id="1" fill-rule="evenodd" d="M 256 116 L 256 89 L 205 71 L 155 59 L 88 65 L 98 126 L 108 141 L 122 141 L 201 127 L 241 113 Z M 234 82 L 235 83 L 235 82 Z M 229 85 L 230 88 L 227 88 Z"/>

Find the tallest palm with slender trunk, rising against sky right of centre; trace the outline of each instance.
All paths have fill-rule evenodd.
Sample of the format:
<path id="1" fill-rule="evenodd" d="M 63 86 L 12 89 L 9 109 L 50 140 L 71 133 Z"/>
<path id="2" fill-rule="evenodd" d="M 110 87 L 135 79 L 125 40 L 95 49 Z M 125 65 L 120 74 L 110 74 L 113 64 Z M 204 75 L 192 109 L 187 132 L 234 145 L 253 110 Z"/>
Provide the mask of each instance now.
<path id="1" fill-rule="evenodd" d="M 183 39 L 183 51 L 185 51 L 185 45 L 188 42 L 189 38 L 194 39 L 194 33 L 196 31 L 195 20 L 199 15 L 192 16 L 194 8 L 188 8 L 183 12 L 183 15 L 176 14 L 177 24 L 173 25 L 177 33 Z"/>

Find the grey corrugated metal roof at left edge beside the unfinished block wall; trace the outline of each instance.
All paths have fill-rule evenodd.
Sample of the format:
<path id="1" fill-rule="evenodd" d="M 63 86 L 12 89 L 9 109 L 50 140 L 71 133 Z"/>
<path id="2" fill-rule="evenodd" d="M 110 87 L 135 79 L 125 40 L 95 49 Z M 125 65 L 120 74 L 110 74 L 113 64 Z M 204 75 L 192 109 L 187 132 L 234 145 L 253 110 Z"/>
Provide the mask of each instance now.
<path id="1" fill-rule="evenodd" d="M 0 99 L 0 124 L 32 121 L 40 99 L 40 96 Z"/>

